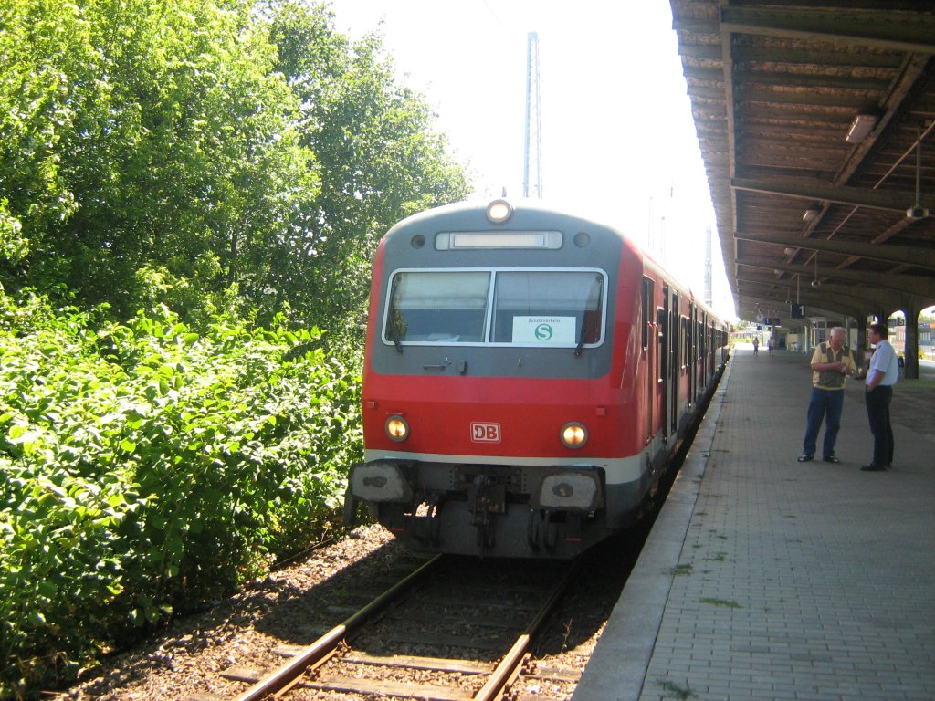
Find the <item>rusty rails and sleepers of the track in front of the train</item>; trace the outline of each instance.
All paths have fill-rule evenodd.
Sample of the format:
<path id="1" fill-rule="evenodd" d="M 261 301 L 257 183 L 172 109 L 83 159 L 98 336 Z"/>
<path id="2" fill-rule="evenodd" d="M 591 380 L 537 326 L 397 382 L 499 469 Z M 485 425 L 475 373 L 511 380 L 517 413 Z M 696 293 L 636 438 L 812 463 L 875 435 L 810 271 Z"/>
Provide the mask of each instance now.
<path id="1" fill-rule="evenodd" d="M 311 645 L 279 649 L 279 667 L 225 670 L 224 678 L 251 684 L 227 701 L 501 698 L 579 562 L 436 556 Z M 574 681 L 579 672 L 539 674 Z"/>

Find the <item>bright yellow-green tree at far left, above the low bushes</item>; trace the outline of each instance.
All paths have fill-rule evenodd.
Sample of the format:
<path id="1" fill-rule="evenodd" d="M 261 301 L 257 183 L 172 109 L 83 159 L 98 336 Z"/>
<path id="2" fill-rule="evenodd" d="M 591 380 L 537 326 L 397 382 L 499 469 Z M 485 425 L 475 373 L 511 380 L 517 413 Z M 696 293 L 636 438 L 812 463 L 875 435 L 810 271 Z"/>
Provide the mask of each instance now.
<path id="1" fill-rule="evenodd" d="M 153 279 L 218 293 L 263 271 L 317 187 L 296 103 L 252 3 L 14 0 L 4 10 L 0 190 L 22 223 L 30 284 L 132 312 Z M 192 303 L 192 300 L 189 300 Z"/>

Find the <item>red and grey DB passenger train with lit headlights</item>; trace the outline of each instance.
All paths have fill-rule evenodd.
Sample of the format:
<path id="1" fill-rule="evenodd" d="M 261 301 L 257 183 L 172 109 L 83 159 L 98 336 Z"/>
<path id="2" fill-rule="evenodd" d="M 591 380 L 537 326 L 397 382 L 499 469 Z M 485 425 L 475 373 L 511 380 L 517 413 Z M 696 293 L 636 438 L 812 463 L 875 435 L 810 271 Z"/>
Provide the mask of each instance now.
<path id="1" fill-rule="evenodd" d="M 435 207 L 374 256 L 363 505 L 413 551 L 570 559 L 647 511 L 728 326 L 616 228 L 540 200 Z"/>

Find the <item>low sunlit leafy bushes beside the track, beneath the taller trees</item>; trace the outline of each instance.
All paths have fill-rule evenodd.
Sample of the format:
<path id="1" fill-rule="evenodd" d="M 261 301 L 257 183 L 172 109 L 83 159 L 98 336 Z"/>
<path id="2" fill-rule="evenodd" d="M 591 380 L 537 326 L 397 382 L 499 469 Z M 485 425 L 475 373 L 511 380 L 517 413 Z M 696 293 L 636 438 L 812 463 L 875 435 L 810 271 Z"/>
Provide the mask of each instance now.
<path id="1" fill-rule="evenodd" d="M 0 294 L 0 695 L 320 533 L 361 450 L 358 367 L 320 345 Z"/>

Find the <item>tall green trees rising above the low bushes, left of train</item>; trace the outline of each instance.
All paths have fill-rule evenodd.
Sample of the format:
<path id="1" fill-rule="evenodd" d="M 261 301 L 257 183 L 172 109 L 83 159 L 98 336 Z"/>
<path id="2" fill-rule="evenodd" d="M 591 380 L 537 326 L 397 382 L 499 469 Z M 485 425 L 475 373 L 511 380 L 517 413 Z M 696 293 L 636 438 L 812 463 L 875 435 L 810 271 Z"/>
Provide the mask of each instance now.
<path id="1" fill-rule="evenodd" d="M 468 185 L 379 37 L 331 21 L 292 0 L 5 0 L 0 283 L 186 321 L 236 290 L 266 321 L 352 327 L 382 233 Z"/>

